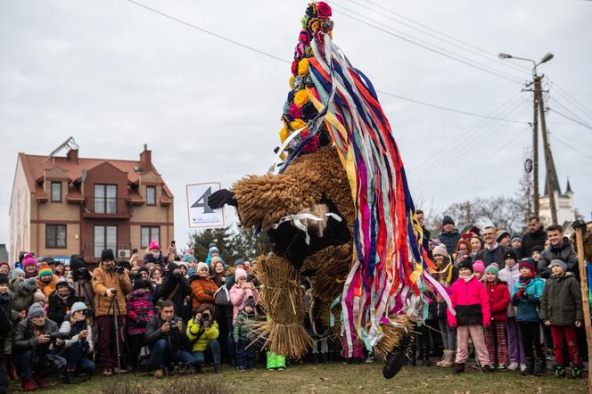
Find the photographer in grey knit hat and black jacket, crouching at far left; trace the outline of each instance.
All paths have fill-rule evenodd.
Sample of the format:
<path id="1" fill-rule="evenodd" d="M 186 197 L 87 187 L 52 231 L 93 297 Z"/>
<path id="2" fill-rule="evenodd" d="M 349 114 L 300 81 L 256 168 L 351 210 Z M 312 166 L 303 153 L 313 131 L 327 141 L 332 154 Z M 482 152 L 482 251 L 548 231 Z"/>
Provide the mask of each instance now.
<path id="1" fill-rule="evenodd" d="M 37 303 L 31 305 L 29 316 L 14 329 L 12 342 L 22 390 L 44 389 L 43 377 L 64 370 L 66 360 L 57 356 L 64 344 L 62 336 L 58 324 L 45 316 L 45 310 Z"/>

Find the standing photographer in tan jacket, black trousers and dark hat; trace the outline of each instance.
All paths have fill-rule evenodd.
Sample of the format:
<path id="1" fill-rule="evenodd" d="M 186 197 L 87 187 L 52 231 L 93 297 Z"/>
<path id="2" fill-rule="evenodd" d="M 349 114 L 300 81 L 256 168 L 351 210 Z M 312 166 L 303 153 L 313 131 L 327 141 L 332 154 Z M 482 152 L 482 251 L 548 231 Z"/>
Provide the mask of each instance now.
<path id="1" fill-rule="evenodd" d="M 111 376 L 121 372 L 118 350 L 125 346 L 126 296 L 132 291 L 127 269 L 116 267 L 111 249 L 103 250 L 101 263 L 93 271 L 93 291 L 103 376 Z"/>

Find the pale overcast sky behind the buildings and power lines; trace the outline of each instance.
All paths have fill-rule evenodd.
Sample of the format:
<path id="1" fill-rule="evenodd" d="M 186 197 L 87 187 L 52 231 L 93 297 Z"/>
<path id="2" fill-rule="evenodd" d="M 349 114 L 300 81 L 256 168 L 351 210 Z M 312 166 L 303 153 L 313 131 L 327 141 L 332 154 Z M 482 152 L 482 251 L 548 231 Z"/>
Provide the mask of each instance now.
<path id="1" fill-rule="evenodd" d="M 142 2 L 285 60 L 293 58 L 307 5 L 294 0 Z M 514 70 L 495 54 L 539 60 L 552 52 L 555 58 L 539 66 L 550 78 L 547 88 L 556 100 L 548 106 L 592 124 L 592 2 L 373 2 L 472 45 L 473 51 L 438 40 L 445 36 L 432 30 L 421 28 L 436 37 L 409 29 L 398 21 L 410 21 L 366 0 L 329 2 L 335 5 L 334 43 L 377 89 L 529 122 L 531 94 L 520 93 L 520 81 L 530 78 L 530 63 L 514 61 Z M 337 12 L 340 5 L 342 12 Z M 374 20 L 365 21 L 380 29 L 349 18 L 345 8 L 356 12 L 355 18 Z M 438 45 L 440 53 L 462 55 L 512 80 L 381 29 L 400 35 L 397 29 L 415 42 Z M 175 194 L 176 238 L 185 243 L 185 185 L 220 181 L 227 187 L 243 175 L 262 174 L 279 143 L 289 64 L 126 0 L 3 1 L 0 53 L 0 243 L 8 243 L 18 152 L 49 154 L 72 135 L 81 157 L 137 160 L 148 144 L 156 168 Z M 584 103 L 588 112 L 566 95 Z M 379 98 L 412 193 L 424 206 L 444 209 L 454 201 L 517 191 L 525 148 L 531 144 L 527 124 L 482 120 L 385 94 Z M 592 130 L 553 112 L 547 115 L 560 184 L 564 188 L 569 176 L 576 205 L 589 218 Z"/>

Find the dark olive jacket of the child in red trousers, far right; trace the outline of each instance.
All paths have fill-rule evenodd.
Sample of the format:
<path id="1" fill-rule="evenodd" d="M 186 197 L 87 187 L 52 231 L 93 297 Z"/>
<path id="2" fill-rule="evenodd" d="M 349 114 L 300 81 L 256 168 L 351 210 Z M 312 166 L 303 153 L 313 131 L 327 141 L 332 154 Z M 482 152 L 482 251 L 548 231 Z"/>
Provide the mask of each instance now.
<path id="1" fill-rule="evenodd" d="M 553 325 L 573 325 L 584 320 L 580 283 L 571 272 L 551 275 L 540 298 L 540 319 Z"/>

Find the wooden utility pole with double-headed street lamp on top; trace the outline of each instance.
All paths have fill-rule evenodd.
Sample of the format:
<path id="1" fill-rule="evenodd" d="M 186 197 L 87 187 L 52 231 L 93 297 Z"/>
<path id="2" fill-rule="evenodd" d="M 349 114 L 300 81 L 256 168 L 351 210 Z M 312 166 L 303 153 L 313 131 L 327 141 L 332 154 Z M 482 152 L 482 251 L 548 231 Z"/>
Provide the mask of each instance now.
<path id="1" fill-rule="evenodd" d="M 553 223 L 557 223 L 557 211 L 555 208 L 555 193 L 553 190 L 553 172 L 551 171 L 551 162 L 553 160 L 551 156 L 551 148 L 548 144 L 547 139 L 547 124 L 545 122 L 545 104 L 543 103 L 543 94 L 542 94 L 542 87 L 540 84 L 540 80 L 542 77 L 537 75 L 537 66 L 540 64 L 546 63 L 553 59 L 553 53 L 547 53 L 545 56 L 542 57 L 540 62 L 535 62 L 532 59 L 514 56 L 510 53 L 499 53 L 497 55 L 499 59 L 517 59 L 519 61 L 531 62 L 532 63 L 532 85 L 534 87 L 534 122 L 532 124 L 532 146 L 533 146 L 533 156 L 534 156 L 534 165 L 533 165 L 533 186 L 534 186 L 534 215 L 539 217 L 539 114 L 540 111 L 540 120 L 541 120 L 541 128 L 543 134 L 543 144 L 545 147 L 545 164 L 547 167 L 547 191 L 549 193 L 549 205 L 551 208 L 551 218 Z"/>

